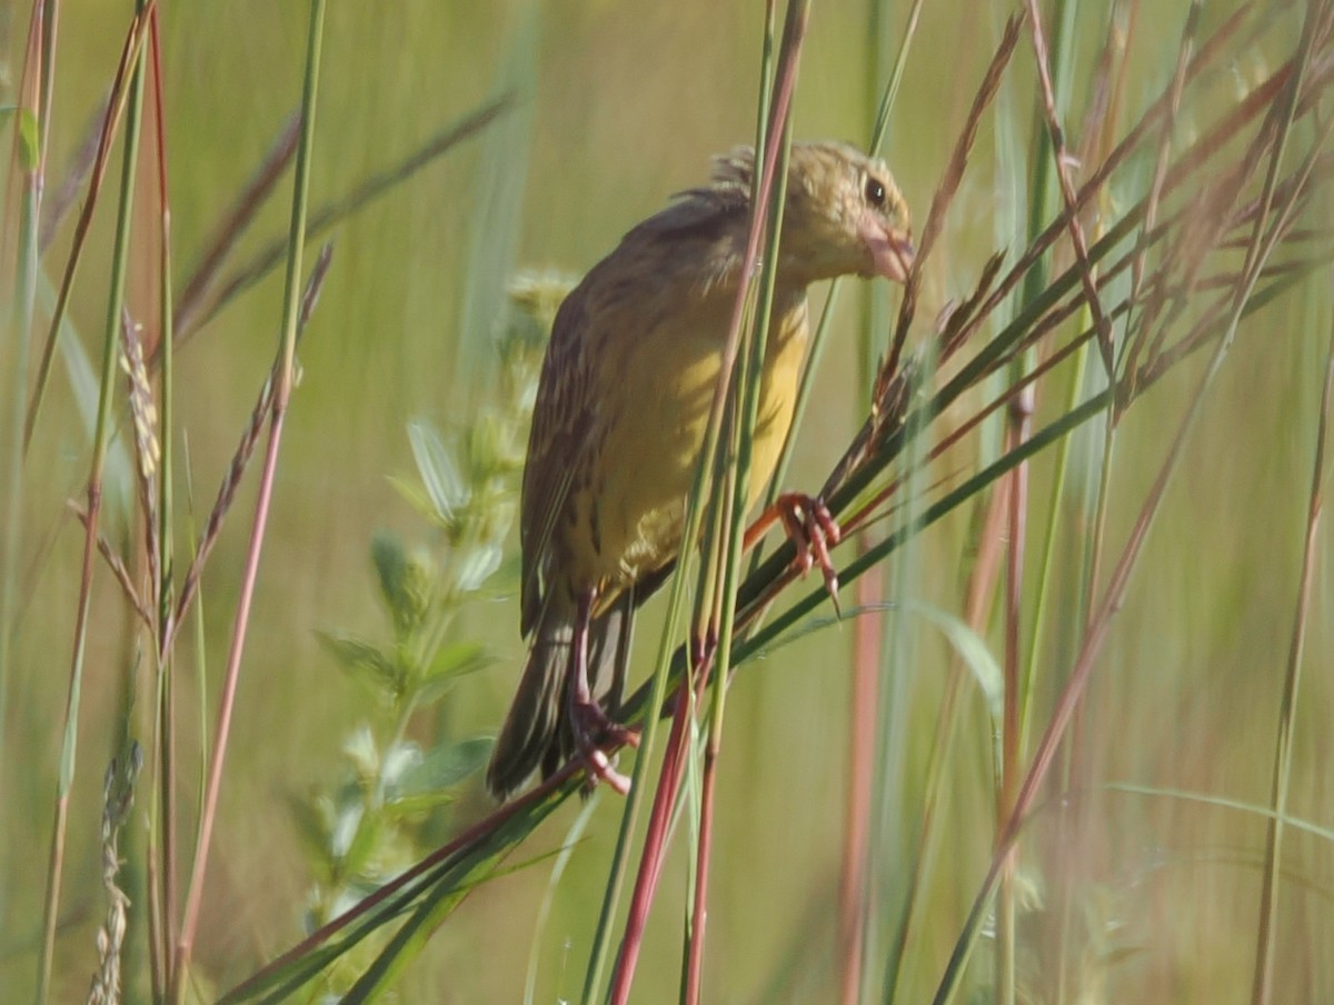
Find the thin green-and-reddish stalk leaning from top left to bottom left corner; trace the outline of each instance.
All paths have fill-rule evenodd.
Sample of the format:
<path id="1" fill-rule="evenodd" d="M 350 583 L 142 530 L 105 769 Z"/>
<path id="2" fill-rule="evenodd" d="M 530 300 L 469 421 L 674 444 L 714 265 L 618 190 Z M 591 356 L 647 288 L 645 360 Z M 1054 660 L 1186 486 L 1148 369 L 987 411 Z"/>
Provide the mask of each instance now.
<path id="1" fill-rule="evenodd" d="M 149 0 L 151 3 L 151 0 Z M 141 24 L 144 7 L 136 20 Z M 141 35 L 141 32 L 139 32 Z M 88 619 L 92 610 L 93 557 L 97 549 L 97 519 L 101 513 L 101 482 L 111 439 L 111 403 L 115 395 L 120 319 L 125 303 L 125 276 L 129 272 L 129 228 L 135 198 L 135 178 L 139 163 L 139 131 L 143 117 L 144 64 L 140 48 L 129 75 L 125 108 L 125 145 L 121 163 L 120 196 L 116 215 L 116 235 L 111 262 L 111 292 L 107 303 L 105 335 L 103 340 L 101 379 L 97 392 L 97 422 L 93 430 L 92 464 L 88 472 L 87 527 L 84 531 L 83 565 L 79 582 L 79 601 L 75 615 L 73 654 L 69 666 L 69 690 L 61 725 L 60 771 L 56 782 L 55 819 L 51 833 L 51 854 L 47 864 L 47 897 L 43 905 L 41 953 L 37 962 L 36 1001 L 45 1002 L 51 989 L 51 965 L 56 948 L 56 916 L 60 906 L 60 888 L 64 873 L 65 827 L 69 821 L 69 793 L 73 787 L 79 742 L 79 709 L 83 697 L 84 647 L 88 641 Z"/>

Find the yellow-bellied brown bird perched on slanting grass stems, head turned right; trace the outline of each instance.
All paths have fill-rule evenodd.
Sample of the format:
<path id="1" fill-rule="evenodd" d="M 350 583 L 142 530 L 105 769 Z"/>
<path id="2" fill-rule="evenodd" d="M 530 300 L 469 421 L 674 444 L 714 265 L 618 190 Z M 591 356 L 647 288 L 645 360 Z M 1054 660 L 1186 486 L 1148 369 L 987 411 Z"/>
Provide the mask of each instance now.
<path id="1" fill-rule="evenodd" d="M 487 769 L 499 798 L 575 754 L 590 778 L 619 779 L 599 745 L 626 738 L 612 717 L 630 621 L 680 550 L 742 282 L 752 171 L 748 148 L 718 157 L 710 184 L 630 231 L 556 314 L 523 475 L 531 647 Z M 778 254 L 748 505 L 792 422 L 807 287 L 851 274 L 906 280 L 908 212 L 884 164 L 844 144 L 794 144 Z"/>

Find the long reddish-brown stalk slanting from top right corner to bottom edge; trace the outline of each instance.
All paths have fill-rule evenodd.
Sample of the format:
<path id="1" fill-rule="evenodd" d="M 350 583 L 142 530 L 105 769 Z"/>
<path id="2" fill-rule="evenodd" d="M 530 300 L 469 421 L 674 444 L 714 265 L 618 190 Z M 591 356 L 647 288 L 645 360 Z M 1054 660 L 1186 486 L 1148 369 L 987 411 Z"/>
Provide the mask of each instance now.
<path id="1" fill-rule="evenodd" d="M 1311 11 L 1307 12 L 1307 19 L 1313 17 Z M 1277 246 L 1281 232 L 1269 231 L 1266 232 L 1266 224 L 1270 219 L 1270 208 L 1274 190 L 1278 182 L 1278 170 L 1282 161 L 1283 149 L 1286 145 L 1287 135 L 1290 132 L 1293 117 L 1298 107 L 1298 96 L 1301 93 L 1301 84 L 1305 77 L 1306 69 L 1310 64 L 1311 44 L 1314 39 L 1314 32 L 1306 31 L 1302 35 L 1302 41 L 1299 47 L 1298 56 L 1294 61 L 1295 72 L 1287 79 L 1283 93 L 1281 95 L 1279 104 L 1275 107 L 1270 121 L 1274 123 L 1273 140 L 1262 133 L 1255 147 L 1259 148 L 1267 143 L 1270 147 L 1269 167 L 1265 178 L 1265 187 L 1261 195 L 1261 212 L 1257 214 L 1255 224 L 1251 234 L 1251 240 L 1246 252 L 1246 266 L 1237 283 L 1235 292 L 1231 298 L 1231 312 L 1223 327 L 1218 344 L 1210 356 L 1209 364 L 1205 372 L 1201 375 L 1194 392 L 1189 399 L 1189 404 L 1185 415 L 1178 426 L 1177 434 L 1173 438 L 1171 446 L 1167 451 L 1157 478 L 1151 488 L 1149 490 L 1145 503 L 1141 507 L 1139 515 L 1131 530 L 1130 538 L 1122 551 L 1121 559 L 1113 571 L 1107 589 L 1103 594 L 1103 601 L 1098 606 L 1094 618 L 1090 622 L 1089 630 L 1085 633 L 1085 639 L 1079 650 L 1079 655 L 1075 659 L 1074 667 L 1070 677 L 1066 679 L 1066 685 L 1057 699 L 1055 709 L 1053 711 L 1051 719 L 1043 734 L 1042 742 L 1034 754 L 1033 763 L 1029 769 L 1027 775 L 1023 779 L 1023 786 L 1015 799 L 1015 807 L 1011 813 L 1005 829 L 1002 830 L 1002 840 L 998 842 L 996 852 L 991 860 L 991 865 L 987 869 L 987 874 L 983 878 L 980 888 L 978 890 L 976 898 L 974 900 L 972 908 L 968 912 L 968 917 L 963 925 L 963 930 L 959 940 L 955 942 L 954 952 L 950 957 L 950 962 L 946 966 L 944 974 L 936 989 L 934 1001 L 936 1005 L 944 1005 L 950 1001 L 956 989 L 959 981 L 962 980 L 963 968 L 967 961 L 971 945 L 976 938 L 976 933 L 980 926 L 982 914 L 986 909 L 986 904 L 991 898 L 991 893 L 995 889 L 995 884 L 999 878 L 1000 869 L 1003 868 L 1005 858 L 1010 849 L 1018 840 L 1021 827 L 1025 818 L 1027 817 L 1030 809 L 1033 807 L 1038 787 L 1045 781 L 1051 762 L 1055 757 L 1057 747 L 1063 737 L 1066 727 L 1070 725 L 1070 719 L 1078 706 L 1085 690 L 1087 689 L 1089 679 L 1093 673 L 1094 658 L 1102 649 L 1102 643 L 1106 641 L 1107 631 L 1111 623 L 1111 615 L 1119 607 L 1122 598 L 1125 597 L 1126 587 L 1129 585 L 1130 573 L 1135 566 L 1135 562 L 1143 549 L 1143 543 L 1149 535 L 1149 529 L 1153 525 L 1153 519 L 1158 513 L 1162 499 L 1166 494 L 1167 484 L 1171 475 L 1175 472 L 1177 466 L 1181 460 L 1182 451 L 1189 439 L 1190 432 L 1194 428 L 1195 419 L 1198 418 L 1205 396 L 1218 371 L 1222 368 L 1227 352 L 1231 348 L 1233 340 L 1237 335 L 1237 327 L 1245 314 L 1246 302 L 1254 291 L 1255 282 L 1261 274 L 1261 266 L 1263 264 L 1267 255 Z M 1323 141 L 1323 137 L 1322 137 Z M 1291 196 L 1295 200 L 1295 196 Z M 1282 215 L 1282 214 L 1279 214 Z"/>

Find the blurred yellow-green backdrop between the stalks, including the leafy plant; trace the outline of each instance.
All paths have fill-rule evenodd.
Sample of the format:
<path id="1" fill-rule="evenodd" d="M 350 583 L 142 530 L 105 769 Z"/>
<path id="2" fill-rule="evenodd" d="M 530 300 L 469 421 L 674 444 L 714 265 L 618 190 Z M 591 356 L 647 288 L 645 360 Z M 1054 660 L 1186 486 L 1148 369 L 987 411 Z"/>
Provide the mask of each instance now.
<path id="1" fill-rule="evenodd" d="M 3 105 L 17 103 L 29 7 L 0 13 Z M 48 204 L 67 174 L 85 161 L 79 151 L 115 75 L 131 7 L 108 0 L 60 5 Z M 871 7 L 880 11 L 879 20 Z M 1066 40 L 1070 79 L 1058 80 L 1069 99 L 1073 149 L 1089 139 L 1081 116 L 1097 97 L 1109 23 L 1127 37 L 1121 93 L 1126 121 L 1133 121 L 1171 81 L 1187 7 L 1181 0 L 1081 5 Z M 1198 37 L 1207 37 L 1233 9 L 1207 5 Z M 883 151 L 918 219 L 926 216 L 1010 13 L 1007 4 L 982 0 L 923 7 Z M 883 65 L 871 68 L 874 55 L 886 39 L 898 43 L 907 15 L 907 4 L 815 5 L 796 96 L 798 136 L 864 140 L 883 87 Z M 177 280 L 195 268 L 299 104 L 305 17 L 304 4 L 255 1 L 161 11 Z M 1261 4 L 1253 17 L 1266 29 L 1247 36 L 1203 97 L 1182 107 L 1174 145 L 1194 140 L 1219 108 L 1249 93 L 1294 51 L 1301 8 Z M 883 37 L 868 24 L 878 24 Z M 711 153 L 748 141 L 759 25 L 759 4 L 703 0 L 422 3 L 392 13 L 372 4 L 329 7 L 312 206 L 356 190 L 499 93 L 512 91 L 515 105 L 328 235 L 335 256 L 300 348 L 300 383 L 287 415 L 203 896 L 195 946 L 203 997 L 235 985 L 296 942 L 308 921 L 324 920 L 355 892 L 431 842 L 443 842 L 447 829 L 492 809 L 474 775 L 451 789 L 444 813 L 414 803 L 392 818 L 390 830 L 375 835 L 384 842 L 375 854 L 370 837 L 356 848 L 355 838 L 346 840 L 348 831 L 363 833 L 368 807 L 380 811 L 395 798 L 424 794 L 410 775 L 428 773 L 435 751 L 458 751 L 459 738 L 495 731 L 522 659 L 516 541 L 507 529 L 536 332 L 514 336 L 507 326 L 514 315 L 502 302 L 492 303 L 490 323 L 479 320 L 488 310 L 470 300 L 480 282 L 476 263 L 494 262 L 491 268 L 504 274 L 490 276 L 498 294 L 520 270 L 579 274 L 668 194 L 703 178 Z M 971 292 L 988 255 L 1022 247 L 1017 235 L 1025 234 L 1030 178 L 1011 155 L 1026 147 L 1041 120 L 1031 52 L 1025 43 L 1019 52 L 996 116 L 983 119 L 940 250 L 923 276 L 923 331 L 914 331 L 914 342 L 938 311 Z M 5 120 L 7 139 L 19 121 Z M 1301 127 L 1303 140 L 1313 140 L 1313 128 Z M 140 157 L 136 178 L 127 294 L 136 319 L 155 318 L 159 296 L 151 161 Z M 119 156 L 111 163 L 108 191 Z M 15 159 L 5 164 L 9 242 L 17 180 Z M 1151 170 L 1151 160 L 1138 163 L 1109 198 L 1141 198 Z M 1317 170 L 1327 172 L 1327 163 Z M 284 178 L 241 236 L 236 262 L 284 232 L 287 194 Z M 502 212 L 507 200 L 518 210 L 512 216 Z M 108 198 L 93 218 L 68 315 L 71 334 L 93 360 L 113 258 L 109 206 Z M 79 199 L 73 207 L 40 260 L 33 344 L 45 334 L 73 242 Z M 1109 219 L 1113 210 L 1102 207 Z M 1299 226 L 1321 235 L 1327 255 L 1327 188 L 1302 212 Z M 3 266 L 8 295 L 12 263 Z M 177 495 L 189 500 L 176 517 L 180 541 L 203 527 L 272 363 L 279 272 L 228 303 L 179 351 L 175 424 L 185 431 L 177 446 L 188 475 L 181 464 Z M 832 346 L 788 475 L 792 486 L 814 491 L 862 420 L 859 402 L 870 378 L 851 347 L 862 334 L 863 295 L 846 290 L 836 311 Z M 1247 318 L 1203 403 L 1073 727 L 1078 759 L 1066 766 L 1066 778 L 1082 782 L 1070 791 L 1061 781 L 1050 783 L 1050 798 L 1026 825 L 1018 898 L 1026 1000 L 1250 1000 L 1263 807 L 1270 803 L 1294 631 L 1331 302 L 1327 270 L 1321 270 Z M 9 316 L 8 303 L 0 310 Z M 883 340 L 884 332 L 874 338 Z M 8 338 L 0 344 L 5 396 L 13 386 L 15 344 Z M 35 355 L 28 355 L 29 370 Z M 20 1001 L 32 996 L 41 944 L 59 723 L 79 597 L 83 535 L 67 500 L 83 498 L 89 430 L 87 388 L 67 376 L 76 355 L 67 346 L 56 364 L 23 467 L 23 537 L 9 557 L 17 605 L 9 661 L 0 667 L 0 988 L 7 1000 Z M 1203 366 L 1191 359 L 1171 371 L 1117 428 L 1106 510 L 1113 555 L 1133 527 Z M 12 402 L 4 406 L 8 423 Z M 1037 410 L 1041 426 L 1065 404 L 1055 394 L 1039 394 Z M 956 411 L 946 419 L 971 414 L 962 406 Z M 117 428 L 113 450 L 128 458 L 129 426 L 121 420 Z M 451 438 L 434 430 L 460 432 Z M 983 447 L 964 444 L 936 462 L 932 476 L 954 476 L 976 456 L 991 459 L 999 423 L 987 435 Z M 1037 651 L 1042 666 L 1038 722 L 1069 673 L 1086 617 L 1081 562 L 1102 474 L 1102 430 L 1081 431 L 1071 444 L 1066 537 L 1047 599 L 1058 617 L 1049 615 L 1041 638 L 1023 638 L 1025 651 Z M 1057 476 L 1053 451 L 1039 454 L 1031 464 L 1031 499 L 1046 500 Z M 402 491 L 418 482 L 416 495 Z M 103 534 L 129 551 L 141 521 L 129 510 L 128 474 L 123 486 L 119 494 L 108 491 Z M 467 495 L 462 486 L 471 487 Z M 192 833 L 199 811 L 203 738 L 212 733 L 247 549 L 243 527 L 253 507 L 251 478 L 201 585 L 199 635 L 193 623 L 183 630 L 175 677 L 181 834 Z M 984 547 L 980 523 L 979 503 L 978 513 L 959 511 L 931 527 L 910 554 L 890 563 L 888 599 L 962 617 L 972 562 Z M 1033 567 L 1045 529 L 1030 533 Z M 1334 717 L 1329 541 L 1325 527 L 1317 538 L 1287 806 L 1309 826 L 1289 829 L 1282 857 L 1274 1001 L 1334 996 L 1334 773 L 1327 770 L 1334 749 L 1325 729 Z M 1033 601 L 1035 578 L 1025 590 L 1023 599 Z M 978 629 L 999 654 L 1003 605 L 988 609 L 994 614 Z M 107 913 L 103 827 L 112 815 L 104 771 L 123 755 L 127 733 L 148 746 L 153 703 L 141 633 L 104 566 L 91 610 L 53 1001 L 84 1000 L 97 970 L 96 933 Z M 656 617 L 655 607 L 646 610 L 636 666 L 648 665 Z M 936 713 L 956 658 L 943 635 L 918 631 L 920 625 L 920 618 L 892 611 L 884 621 L 891 639 L 911 635 L 912 642 L 896 650 L 907 658 L 894 665 L 892 715 L 906 735 L 891 765 L 896 813 L 883 821 L 883 844 L 874 850 L 879 874 L 887 877 L 878 890 L 884 902 L 902 902 L 916 856 L 927 862 L 924 906 L 898 976 L 899 1001 L 934 993 L 990 860 L 996 817 L 991 722 L 982 697 L 966 689 L 938 834 L 931 848 L 916 848 Z M 838 998 L 854 635 L 847 626 L 807 634 L 738 677 L 720 763 L 707 1001 Z M 329 659 L 321 638 L 338 659 Z M 460 667 L 480 670 L 483 654 L 494 659 L 484 673 L 454 679 Z M 370 679 L 371 705 L 366 681 L 339 673 L 339 662 L 366 671 L 360 675 Z M 435 687 L 436 671 L 452 683 L 447 697 Z M 444 774 L 458 781 L 455 773 Z M 125 860 L 120 886 L 131 900 L 127 1001 L 148 993 L 147 936 L 143 914 L 136 917 L 148 900 L 145 795 L 141 789 L 128 822 L 119 823 Z M 304 809 L 293 813 L 293 803 Z M 516 858 L 540 860 L 560 848 L 578 813 L 578 805 L 562 806 Z M 472 892 L 403 976 L 399 997 L 518 1001 L 530 960 L 538 966 L 536 1001 L 578 997 L 618 818 L 614 801 L 602 799 L 536 944 L 548 876 L 540 865 Z M 394 829 L 404 821 L 410 837 L 400 844 Z M 635 1001 L 676 998 L 683 860 L 683 848 L 668 860 Z M 876 974 L 890 940 L 887 932 L 870 936 Z M 991 957 L 974 953 L 972 984 L 962 1000 L 992 1000 Z"/>

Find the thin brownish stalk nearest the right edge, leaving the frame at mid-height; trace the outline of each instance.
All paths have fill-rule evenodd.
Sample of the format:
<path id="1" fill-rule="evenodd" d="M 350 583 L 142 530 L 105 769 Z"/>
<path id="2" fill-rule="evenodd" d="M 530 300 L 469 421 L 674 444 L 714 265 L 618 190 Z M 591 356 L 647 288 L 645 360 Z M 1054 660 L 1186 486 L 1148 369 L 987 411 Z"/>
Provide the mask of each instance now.
<path id="1" fill-rule="evenodd" d="M 1274 996 L 1274 933 L 1278 918 L 1279 868 L 1283 861 L 1283 818 L 1287 814 L 1287 793 L 1293 774 L 1293 737 L 1295 734 L 1297 698 L 1302 683 L 1302 653 L 1306 645 L 1306 626 L 1310 619 L 1311 586 L 1315 578 L 1319 523 L 1325 503 L 1325 442 L 1331 398 L 1334 398 L 1334 326 L 1331 326 L 1326 352 L 1325 386 L 1321 391 L 1321 410 L 1315 426 L 1311 494 L 1306 507 L 1306 541 L 1302 549 L 1302 571 L 1298 577 L 1297 603 L 1293 610 L 1293 635 L 1289 642 L 1283 698 L 1278 713 L 1278 737 L 1274 745 L 1274 778 L 1270 786 L 1273 815 L 1269 818 L 1269 831 L 1265 837 L 1265 880 L 1259 897 L 1259 921 L 1255 926 L 1253 1005 L 1269 1005 Z"/>

